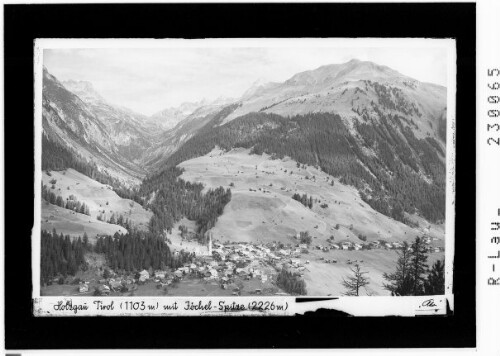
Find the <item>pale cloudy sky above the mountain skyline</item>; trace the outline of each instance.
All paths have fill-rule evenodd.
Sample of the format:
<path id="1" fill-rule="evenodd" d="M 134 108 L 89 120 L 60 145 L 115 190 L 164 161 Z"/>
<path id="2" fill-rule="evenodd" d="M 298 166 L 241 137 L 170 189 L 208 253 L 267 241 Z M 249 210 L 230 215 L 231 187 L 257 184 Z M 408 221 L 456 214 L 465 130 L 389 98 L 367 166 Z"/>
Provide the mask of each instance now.
<path id="1" fill-rule="evenodd" d="M 298 72 L 353 58 L 446 86 L 443 48 L 113 48 L 45 49 L 59 80 L 90 81 L 111 103 L 151 115 L 186 101 L 237 98 L 256 80 L 282 82 Z"/>

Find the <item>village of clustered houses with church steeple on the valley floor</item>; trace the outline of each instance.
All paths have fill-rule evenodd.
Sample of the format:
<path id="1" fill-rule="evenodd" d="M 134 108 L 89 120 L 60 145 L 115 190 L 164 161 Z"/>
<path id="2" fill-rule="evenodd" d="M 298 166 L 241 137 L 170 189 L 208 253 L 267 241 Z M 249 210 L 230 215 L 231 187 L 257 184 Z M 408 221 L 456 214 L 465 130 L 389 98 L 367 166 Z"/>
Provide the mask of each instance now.
<path id="1" fill-rule="evenodd" d="M 180 230 L 183 230 L 181 227 Z M 279 274 L 286 271 L 293 278 L 303 280 L 308 267 L 313 263 L 360 264 L 363 260 L 350 259 L 352 251 L 393 250 L 403 248 L 400 242 L 384 240 L 366 242 L 333 240 L 326 244 L 313 243 L 308 233 L 298 233 L 293 238 L 295 244 L 281 242 L 246 243 L 212 241 L 208 246 L 193 240 L 193 234 L 182 233 L 184 244 L 198 244 L 198 254 L 191 254 L 191 261 L 176 269 L 153 271 L 142 270 L 135 274 L 120 274 L 108 268 L 104 261 L 90 261 L 95 254 L 89 254 L 91 266 L 84 275 L 61 283 L 56 278 L 54 286 L 64 284 L 67 295 L 121 296 L 121 295 L 266 295 L 283 296 L 290 294 L 280 285 Z M 424 237 L 423 242 L 430 254 L 443 252 L 442 247 L 434 246 L 433 237 Z M 343 258 L 332 258 L 331 252 L 341 253 Z M 179 255 L 185 251 L 174 251 Z M 94 278 L 91 278 L 94 277 Z M 188 289 L 183 288 L 188 287 Z M 304 293 L 305 294 L 305 293 Z"/>

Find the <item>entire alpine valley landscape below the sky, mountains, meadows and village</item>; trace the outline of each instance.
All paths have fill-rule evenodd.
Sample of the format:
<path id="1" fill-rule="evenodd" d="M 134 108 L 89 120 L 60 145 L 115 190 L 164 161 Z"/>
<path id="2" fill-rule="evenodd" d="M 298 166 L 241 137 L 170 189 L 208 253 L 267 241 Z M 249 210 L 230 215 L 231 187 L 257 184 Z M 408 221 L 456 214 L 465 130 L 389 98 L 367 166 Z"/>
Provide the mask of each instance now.
<path id="1" fill-rule="evenodd" d="M 44 68 L 42 294 L 441 293 L 446 98 L 351 60 L 148 117 Z"/>

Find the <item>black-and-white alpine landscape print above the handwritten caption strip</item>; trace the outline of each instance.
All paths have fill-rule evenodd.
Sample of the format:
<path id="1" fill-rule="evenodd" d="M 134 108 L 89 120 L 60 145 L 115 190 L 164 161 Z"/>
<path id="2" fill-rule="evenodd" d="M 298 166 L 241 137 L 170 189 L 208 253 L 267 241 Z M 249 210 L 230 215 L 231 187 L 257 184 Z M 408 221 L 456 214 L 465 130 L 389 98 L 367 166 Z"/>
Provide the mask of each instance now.
<path id="1" fill-rule="evenodd" d="M 40 297 L 451 294 L 452 40 L 40 44 Z"/>

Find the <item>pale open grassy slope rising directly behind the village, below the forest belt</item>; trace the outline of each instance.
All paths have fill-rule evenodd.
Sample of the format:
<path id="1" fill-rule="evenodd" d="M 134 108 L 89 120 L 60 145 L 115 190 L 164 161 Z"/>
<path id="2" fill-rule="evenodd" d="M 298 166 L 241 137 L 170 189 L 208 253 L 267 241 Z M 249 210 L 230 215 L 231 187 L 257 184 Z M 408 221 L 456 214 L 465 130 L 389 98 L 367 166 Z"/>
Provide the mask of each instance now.
<path id="1" fill-rule="evenodd" d="M 331 235 L 336 242 L 360 242 L 360 233 L 367 236 L 368 242 L 392 242 L 410 241 L 425 234 L 444 245 L 443 225 L 409 227 L 373 210 L 354 187 L 314 167 L 297 168 L 291 159 L 272 160 L 268 155 L 251 155 L 245 149 L 227 153 L 215 149 L 179 167 L 185 169 L 182 179 L 201 182 L 205 189 L 231 188 L 232 199 L 212 229 L 214 238 L 220 241 L 286 243 L 298 232 L 308 231 L 318 243 L 326 242 Z M 294 193 L 306 193 L 317 202 L 309 209 L 292 199 Z M 322 208 L 322 204 L 328 206 Z"/>

